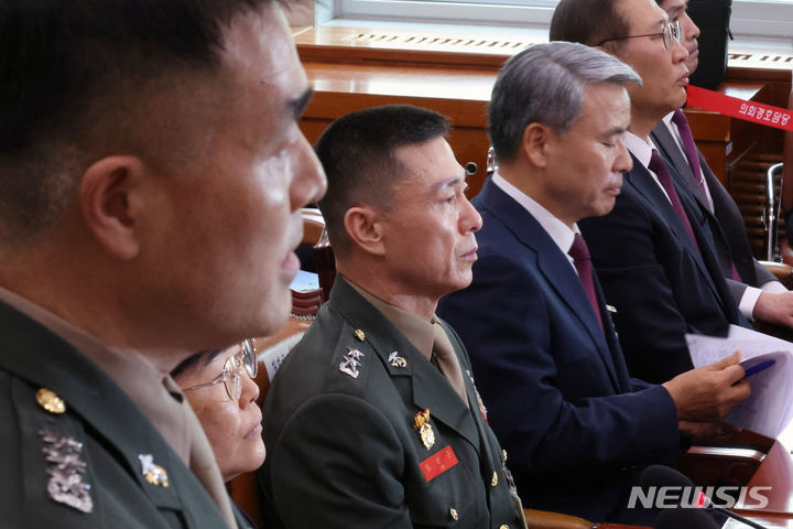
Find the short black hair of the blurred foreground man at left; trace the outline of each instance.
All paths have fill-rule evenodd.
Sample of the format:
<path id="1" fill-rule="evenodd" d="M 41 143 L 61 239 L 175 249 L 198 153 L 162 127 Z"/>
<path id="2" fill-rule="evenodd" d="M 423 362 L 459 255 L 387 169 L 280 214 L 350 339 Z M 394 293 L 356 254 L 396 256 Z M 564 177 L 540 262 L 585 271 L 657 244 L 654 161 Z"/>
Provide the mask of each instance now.
<path id="1" fill-rule="evenodd" d="M 63 213 L 120 90 L 217 66 L 235 15 L 275 2 L 2 0 L 0 241 L 31 238 Z"/>

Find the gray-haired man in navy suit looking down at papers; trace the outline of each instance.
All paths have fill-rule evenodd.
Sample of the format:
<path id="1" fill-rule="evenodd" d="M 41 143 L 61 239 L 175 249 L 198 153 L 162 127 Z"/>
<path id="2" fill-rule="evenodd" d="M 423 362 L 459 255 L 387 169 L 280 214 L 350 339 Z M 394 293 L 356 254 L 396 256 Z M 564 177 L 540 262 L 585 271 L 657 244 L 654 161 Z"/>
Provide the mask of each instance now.
<path id="1" fill-rule="evenodd" d="M 738 355 L 663 386 L 631 379 L 577 233 L 611 209 L 631 166 L 623 85 L 640 80 L 580 44 L 507 63 L 489 108 L 499 170 L 474 199 L 474 281 L 438 310 L 470 352 L 525 505 L 593 521 L 651 521 L 627 509 L 641 468 L 674 464 L 681 433 L 729 430 L 720 419 L 749 392 Z"/>

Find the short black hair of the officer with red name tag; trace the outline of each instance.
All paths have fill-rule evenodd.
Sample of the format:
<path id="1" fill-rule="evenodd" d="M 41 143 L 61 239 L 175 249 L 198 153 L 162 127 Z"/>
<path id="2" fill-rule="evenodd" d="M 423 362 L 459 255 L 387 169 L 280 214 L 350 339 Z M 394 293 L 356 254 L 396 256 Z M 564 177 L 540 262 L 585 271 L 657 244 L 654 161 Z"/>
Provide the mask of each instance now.
<path id="1" fill-rule="evenodd" d="M 448 130 L 445 116 L 410 105 L 368 108 L 330 123 L 315 150 L 328 182 L 319 209 L 337 256 L 350 249 L 344 226 L 350 207 L 366 203 L 388 210 L 392 205 L 393 186 L 406 176 L 394 150 L 446 137 Z"/>

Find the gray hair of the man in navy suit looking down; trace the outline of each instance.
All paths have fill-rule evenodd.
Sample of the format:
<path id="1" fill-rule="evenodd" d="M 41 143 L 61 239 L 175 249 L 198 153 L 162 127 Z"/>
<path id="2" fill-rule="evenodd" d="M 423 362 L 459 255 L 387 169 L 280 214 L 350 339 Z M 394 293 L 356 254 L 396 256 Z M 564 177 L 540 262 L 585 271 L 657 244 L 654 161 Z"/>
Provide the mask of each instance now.
<path id="1" fill-rule="evenodd" d="M 502 162 L 514 160 L 531 123 L 565 134 L 578 119 L 590 84 L 641 84 L 620 60 L 583 44 L 535 44 L 510 58 L 496 79 L 488 107 L 488 134 Z"/>

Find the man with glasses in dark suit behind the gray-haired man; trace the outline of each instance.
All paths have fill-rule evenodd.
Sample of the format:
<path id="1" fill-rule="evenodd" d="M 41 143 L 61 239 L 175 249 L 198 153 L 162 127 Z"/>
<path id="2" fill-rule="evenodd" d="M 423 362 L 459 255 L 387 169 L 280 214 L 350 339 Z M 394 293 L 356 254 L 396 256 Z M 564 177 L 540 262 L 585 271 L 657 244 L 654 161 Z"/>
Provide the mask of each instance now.
<path id="1" fill-rule="evenodd" d="M 686 333 L 749 327 L 727 287 L 710 228 L 650 143 L 650 131 L 685 101 L 688 52 L 680 26 L 653 0 L 562 0 L 551 39 L 599 46 L 641 77 L 628 86 L 626 145 L 633 169 L 610 214 L 585 219 L 589 246 L 632 376 L 663 382 L 693 367 Z"/>

